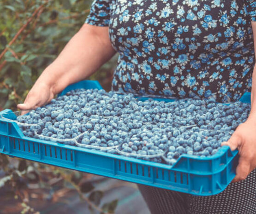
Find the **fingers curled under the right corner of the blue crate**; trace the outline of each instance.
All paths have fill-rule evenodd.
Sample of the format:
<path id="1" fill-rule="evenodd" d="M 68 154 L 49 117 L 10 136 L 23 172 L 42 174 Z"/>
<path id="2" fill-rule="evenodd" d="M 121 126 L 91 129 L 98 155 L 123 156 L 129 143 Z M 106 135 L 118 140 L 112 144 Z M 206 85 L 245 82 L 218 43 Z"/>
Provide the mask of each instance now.
<path id="1" fill-rule="evenodd" d="M 241 156 L 239 158 L 238 167 L 236 170 L 236 177 L 232 180 L 232 183 L 244 180 L 251 172 L 251 161 L 249 158 Z"/>

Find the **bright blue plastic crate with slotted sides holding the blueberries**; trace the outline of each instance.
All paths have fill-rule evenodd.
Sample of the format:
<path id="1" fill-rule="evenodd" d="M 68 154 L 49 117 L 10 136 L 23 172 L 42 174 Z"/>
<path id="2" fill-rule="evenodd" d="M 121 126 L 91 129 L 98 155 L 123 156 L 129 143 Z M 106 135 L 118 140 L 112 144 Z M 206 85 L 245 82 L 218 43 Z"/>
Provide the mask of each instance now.
<path id="1" fill-rule="evenodd" d="M 98 81 L 81 81 L 67 87 L 61 95 L 77 88 L 102 87 Z M 241 101 L 250 103 L 250 93 L 245 93 Z M 0 115 L 7 112 L 12 111 L 3 110 Z M 15 122 L 3 118 L 0 118 L 0 153 L 198 196 L 223 191 L 234 178 L 238 164 L 238 150 L 231 151 L 228 146 L 221 147 L 211 157 L 182 155 L 176 164 L 169 166 L 25 137 Z"/>

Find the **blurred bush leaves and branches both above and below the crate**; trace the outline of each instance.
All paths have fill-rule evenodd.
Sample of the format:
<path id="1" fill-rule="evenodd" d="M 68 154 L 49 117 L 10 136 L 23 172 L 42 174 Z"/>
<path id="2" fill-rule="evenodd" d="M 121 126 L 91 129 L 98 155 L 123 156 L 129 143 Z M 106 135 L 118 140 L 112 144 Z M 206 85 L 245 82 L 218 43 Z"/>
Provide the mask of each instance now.
<path id="1" fill-rule="evenodd" d="M 1 0 L 0 1 L 0 110 L 17 110 L 43 69 L 60 53 L 82 26 L 91 0 Z M 116 57 L 91 79 L 109 89 Z M 95 191 L 93 175 L 0 155 L 1 213 L 37 214 L 30 207 L 30 185 L 47 190 L 43 200 L 60 197 L 52 181 L 68 184 L 93 211 L 111 213 L 117 201 L 101 204 L 104 192 Z M 7 202 L 14 200 L 9 206 Z M 40 199 L 38 199 L 40 200 Z M 11 212 L 11 208 L 16 208 Z"/>

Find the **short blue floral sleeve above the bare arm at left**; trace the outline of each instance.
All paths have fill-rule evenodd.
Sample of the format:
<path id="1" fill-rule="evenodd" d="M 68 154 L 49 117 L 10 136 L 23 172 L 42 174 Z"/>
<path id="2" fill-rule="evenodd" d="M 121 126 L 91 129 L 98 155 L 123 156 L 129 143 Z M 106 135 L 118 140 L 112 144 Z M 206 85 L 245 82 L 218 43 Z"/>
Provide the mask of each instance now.
<path id="1" fill-rule="evenodd" d="M 110 0 L 94 0 L 85 23 L 96 26 L 108 26 L 110 19 Z"/>

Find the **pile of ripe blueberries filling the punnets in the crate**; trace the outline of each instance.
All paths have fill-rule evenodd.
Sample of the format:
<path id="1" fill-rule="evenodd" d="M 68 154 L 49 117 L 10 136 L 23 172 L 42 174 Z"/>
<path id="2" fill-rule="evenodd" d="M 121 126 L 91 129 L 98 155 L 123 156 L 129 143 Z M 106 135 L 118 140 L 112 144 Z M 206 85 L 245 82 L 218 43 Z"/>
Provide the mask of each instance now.
<path id="1" fill-rule="evenodd" d="M 77 89 L 17 121 L 32 138 L 173 165 L 182 154 L 214 155 L 249 113 L 250 104 L 213 98 L 141 101 L 131 93 Z"/>

